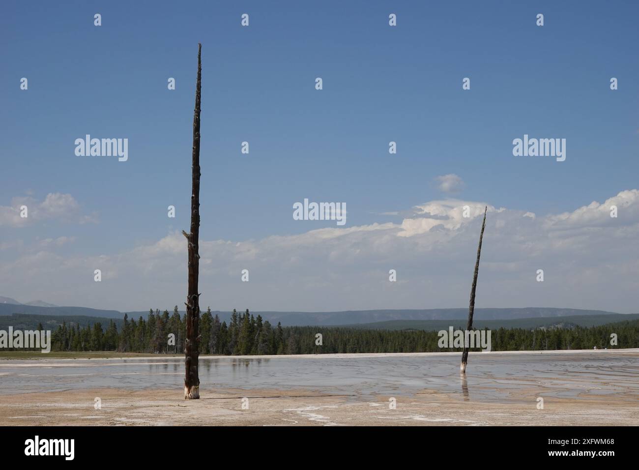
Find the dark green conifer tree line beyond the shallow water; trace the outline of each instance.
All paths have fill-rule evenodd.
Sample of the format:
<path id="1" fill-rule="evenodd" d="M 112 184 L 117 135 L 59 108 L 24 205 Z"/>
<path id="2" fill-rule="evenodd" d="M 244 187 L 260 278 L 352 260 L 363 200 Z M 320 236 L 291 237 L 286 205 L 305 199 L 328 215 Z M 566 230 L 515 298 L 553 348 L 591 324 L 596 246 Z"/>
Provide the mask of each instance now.
<path id="1" fill-rule="evenodd" d="M 456 329 L 463 329 L 461 325 Z M 40 325 L 39 329 L 42 329 Z M 357 352 L 438 352 L 461 351 L 440 348 L 437 331 L 372 330 L 353 327 L 273 326 L 261 315 L 247 309 L 233 309 L 229 324 L 213 317 L 210 308 L 199 322 L 199 352 L 220 355 L 321 354 Z M 321 336 L 318 336 L 321 335 Z M 611 344 L 615 334 L 617 345 Z M 100 322 L 81 327 L 59 325 L 52 333 L 55 351 L 117 351 L 181 354 L 186 338 L 186 315 L 178 307 L 163 313 L 153 309 L 146 320 L 127 315 L 118 329 L 113 320 L 106 328 Z M 639 320 L 593 327 L 552 327 L 538 329 L 499 328 L 491 330 L 491 350 L 564 350 L 639 347 Z M 479 349 L 475 349 L 479 350 Z"/>

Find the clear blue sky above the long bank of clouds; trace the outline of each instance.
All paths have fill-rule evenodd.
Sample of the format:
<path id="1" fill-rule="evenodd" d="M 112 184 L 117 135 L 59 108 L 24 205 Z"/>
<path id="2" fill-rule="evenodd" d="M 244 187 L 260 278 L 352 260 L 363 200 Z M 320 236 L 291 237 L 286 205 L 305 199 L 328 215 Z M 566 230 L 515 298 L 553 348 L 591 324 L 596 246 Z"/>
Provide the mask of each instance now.
<path id="1" fill-rule="evenodd" d="M 451 197 L 543 217 L 637 187 L 635 2 L 7 1 L 2 8 L 0 206 L 58 193 L 77 203 L 73 217 L 0 225 L 7 247 L 0 260 L 15 266 L 40 253 L 33 246 L 43 239 L 73 237 L 55 252 L 68 262 L 114 258 L 189 227 L 198 42 L 204 240 L 258 242 L 335 227 L 293 220 L 292 205 L 304 198 L 345 202 L 345 228 L 353 228 L 401 224 L 404 211 Z M 242 13 L 249 27 L 240 25 Z M 537 13 L 543 27 L 535 25 Z M 167 90 L 169 77 L 176 90 Z M 470 90 L 461 89 L 463 77 Z M 610 77 L 619 90 L 610 90 Z M 127 137 L 128 161 L 75 156 L 73 142 L 85 134 Z M 523 134 L 566 138 L 566 161 L 514 157 L 512 139 Z M 249 155 L 240 153 L 242 141 Z M 397 142 L 396 155 L 389 141 Z M 436 178 L 449 174 L 463 180 L 461 191 L 440 190 Z M 175 219 L 167 218 L 168 205 L 176 206 Z M 313 269 L 310 260 L 305 269 Z M 460 285 L 470 284 L 467 271 Z M 118 274 L 123 282 L 126 275 Z M 77 288 L 71 279 L 51 290 L 39 285 L 33 297 L 69 303 Z M 0 295 L 31 297 L 7 282 Z M 467 290 L 443 306 L 463 306 Z M 117 305 L 102 306 L 142 307 L 121 295 Z M 253 308 L 265 309 L 255 295 Z M 331 308 L 351 306 L 343 295 Z M 321 297 L 278 299 L 266 304 L 327 309 Z M 576 306 L 568 297 L 551 300 Z M 389 303 L 422 306 L 417 292 Z M 243 308 L 229 299 L 216 305 L 234 306 Z"/>

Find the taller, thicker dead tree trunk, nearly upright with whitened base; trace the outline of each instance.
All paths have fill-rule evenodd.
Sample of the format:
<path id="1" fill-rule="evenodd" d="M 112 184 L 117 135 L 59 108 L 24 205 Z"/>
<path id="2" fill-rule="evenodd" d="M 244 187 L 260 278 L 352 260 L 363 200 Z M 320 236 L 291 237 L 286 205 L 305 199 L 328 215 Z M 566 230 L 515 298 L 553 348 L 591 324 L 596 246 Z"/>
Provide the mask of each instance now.
<path id="1" fill-rule="evenodd" d="M 191 191 L 191 231 L 183 235 L 187 237 L 189 248 L 189 293 L 187 295 L 187 338 L 185 341 L 185 369 L 184 398 L 199 398 L 199 376 L 197 375 L 197 360 L 199 356 L 199 293 L 197 279 L 199 277 L 199 115 L 200 91 L 202 86 L 202 45 L 197 45 L 197 84 L 196 109 L 193 114 L 193 162 L 192 162 L 192 191 Z"/>

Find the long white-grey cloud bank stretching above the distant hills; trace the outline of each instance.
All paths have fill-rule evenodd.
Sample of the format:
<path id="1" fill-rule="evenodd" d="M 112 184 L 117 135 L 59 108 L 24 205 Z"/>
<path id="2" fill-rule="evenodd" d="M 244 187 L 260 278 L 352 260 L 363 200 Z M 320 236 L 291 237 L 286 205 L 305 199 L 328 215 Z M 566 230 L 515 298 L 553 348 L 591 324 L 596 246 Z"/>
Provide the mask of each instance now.
<path id="1" fill-rule="evenodd" d="M 463 206 L 470 217 L 463 217 Z M 617 205 L 617 218 L 610 207 Z M 346 310 L 468 304 L 484 207 L 477 307 L 555 306 L 636 312 L 639 191 L 539 216 L 483 201 L 441 200 L 401 223 L 321 228 L 261 240 L 201 233 L 201 306 Z M 312 221 L 308 223 L 312 227 Z M 70 240 L 52 240 L 51 246 Z M 65 258 L 45 243 L 0 266 L 1 295 L 56 304 L 148 309 L 183 305 L 187 250 L 181 233 L 119 255 Z M 102 282 L 93 270 L 102 270 Z M 249 282 L 241 281 L 242 269 Z M 389 281 L 389 270 L 397 282 Z M 544 282 L 535 280 L 544 270 Z"/>

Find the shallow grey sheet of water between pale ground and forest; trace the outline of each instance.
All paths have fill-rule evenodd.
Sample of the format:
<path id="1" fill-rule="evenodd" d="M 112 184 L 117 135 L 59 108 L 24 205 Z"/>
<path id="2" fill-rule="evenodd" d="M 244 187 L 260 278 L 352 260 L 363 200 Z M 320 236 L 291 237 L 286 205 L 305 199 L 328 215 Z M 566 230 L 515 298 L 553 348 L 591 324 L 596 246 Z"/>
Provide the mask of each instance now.
<path id="1" fill-rule="evenodd" d="M 473 400 L 508 400 L 513 389 L 577 397 L 639 399 L 636 354 L 482 354 L 474 356 Z M 413 395 L 424 389 L 470 400 L 457 356 L 200 357 L 202 389 L 306 389 L 331 395 Z M 176 388 L 183 357 L 0 361 L 0 393 L 88 388 Z"/>

